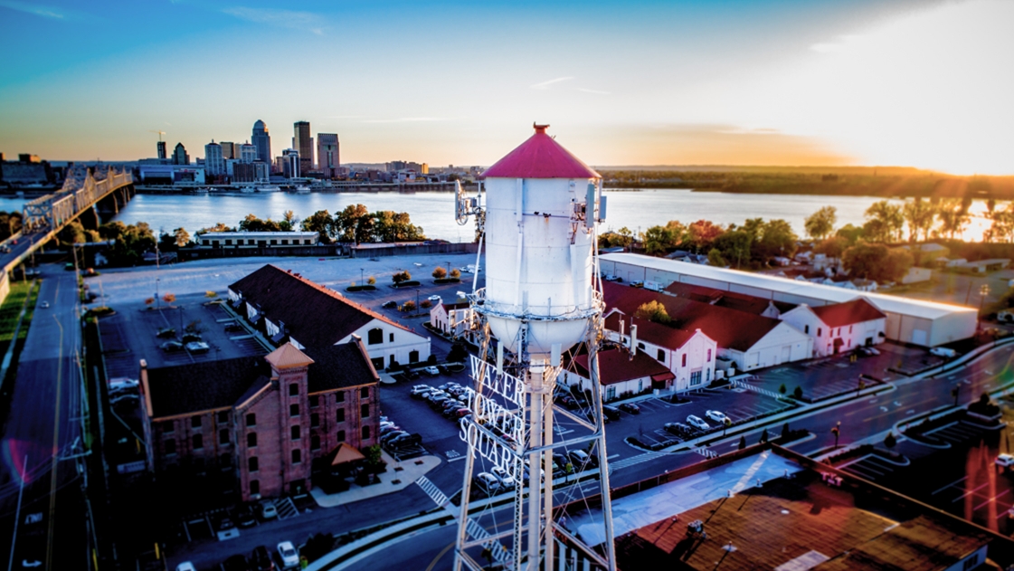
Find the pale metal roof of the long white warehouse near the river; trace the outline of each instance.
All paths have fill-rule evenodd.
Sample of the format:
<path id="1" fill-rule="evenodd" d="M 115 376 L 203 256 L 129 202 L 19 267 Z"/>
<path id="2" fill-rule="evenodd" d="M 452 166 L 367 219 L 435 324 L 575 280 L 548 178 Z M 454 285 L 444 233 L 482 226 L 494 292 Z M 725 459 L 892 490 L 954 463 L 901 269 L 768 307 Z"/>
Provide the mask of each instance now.
<path id="1" fill-rule="evenodd" d="M 752 274 L 739 270 L 728 270 L 725 268 L 713 268 L 700 264 L 689 264 L 686 262 L 676 262 L 662 258 L 652 258 L 639 254 L 605 254 L 602 255 L 603 262 L 614 262 L 618 264 L 628 264 L 643 268 L 650 268 L 662 272 L 672 272 L 683 276 L 726 282 L 740 286 L 752 287 L 763 290 L 770 290 L 787 295 L 796 295 L 817 299 L 825 303 L 842 303 L 851 301 L 857 297 L 865 297 L 873 302 L 881 311 L 887 313 L 898 313 L 916 317 L 936 319 L 956 313 L 975 312 L 973 307 L 963 305 L 953 305 L 950 303 L 940 303 L 937 301 L 926 301 L 923 299 L 912 299 L 909 297 L 898 297 L 883 293 L 859 292 L 835 286 L 814 284 L 810 282 L 796 281 L 779 276 L 769 276 L 766 274 Z"/>

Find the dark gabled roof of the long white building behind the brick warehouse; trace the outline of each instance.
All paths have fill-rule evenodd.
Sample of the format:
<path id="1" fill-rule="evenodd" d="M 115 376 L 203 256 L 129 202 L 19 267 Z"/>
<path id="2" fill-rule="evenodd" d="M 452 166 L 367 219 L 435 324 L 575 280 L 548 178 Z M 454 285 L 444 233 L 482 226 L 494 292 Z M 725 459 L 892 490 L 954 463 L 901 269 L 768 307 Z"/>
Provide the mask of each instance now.
<path id="1" fill-rule="evenodd" d="M 267 265 L 229 286 L 303 347 L 334 345 L 373 319 L 419 334 L 297 274 Z"/>

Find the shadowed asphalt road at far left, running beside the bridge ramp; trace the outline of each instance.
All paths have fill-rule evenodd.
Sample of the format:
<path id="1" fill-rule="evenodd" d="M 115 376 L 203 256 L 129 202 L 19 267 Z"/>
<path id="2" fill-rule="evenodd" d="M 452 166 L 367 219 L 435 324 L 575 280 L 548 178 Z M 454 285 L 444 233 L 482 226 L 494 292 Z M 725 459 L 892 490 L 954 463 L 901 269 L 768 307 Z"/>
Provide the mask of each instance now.
<path id="1" fill-rule="evenodd" d="M 75 461 L 63 458 L 83 451 L 80 421 L 83 394 L 77 364 L 81 332 L 74 274 L 55 266 L 46 266 L 43 272 L 39 302 L 18 361 L 10 413 L 3 429 L 5 461 L 0 462 L 0 482 L 3 482 L 0 529 L 13 529 L 23 483 L 21 515 L 43 513 L 44 534 L 50 536 L 49 549 L 44 555 L 55 565 L 67 556 L 54 547 L 52 531 L 60 527 L 55 518 L 78 518 L 80 522 L 80 513 L 76 509 L 61 509 L 53 492 L 78 478 Z M 49 308 L 42 307 L 44 301 L 50 304 Z M 0 536 L 0 553 L 5 556 L 10 540 L 7 533 Z"/>

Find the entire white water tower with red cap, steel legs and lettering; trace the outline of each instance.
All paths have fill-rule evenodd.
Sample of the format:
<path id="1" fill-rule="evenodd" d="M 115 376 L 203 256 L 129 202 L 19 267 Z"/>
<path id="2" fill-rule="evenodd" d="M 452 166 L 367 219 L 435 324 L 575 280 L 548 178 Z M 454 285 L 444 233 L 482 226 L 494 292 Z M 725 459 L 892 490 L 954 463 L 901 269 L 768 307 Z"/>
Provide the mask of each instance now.
<path id="1" fill-rule="evenodd" d="M 615 569 L 596 356 L 603 310 L 596 227 L 604 219 L 605 198 L 601 176 L 550 137 L 548 128 L 535 125 L 534 135 L 484 172 L 485 205 L 482 188 L 475 198 L 458 189 L 458 222 L 475 215 L 485 230 L 486 287 L 474 287 L 469 301 L 486 358 L 472 357 L 478 397 L 472 417 L 461 423 L 468 454 L 456 570 L 479 571 L 484 557 L 518 571 L 577 562 Z M 568 355 L 577 353 L 588 355 L 592 390 L 586 409 L 573 412 L 554 406 L 554 391 Z M 554 452 L 567 457 L 574 450 L 597 454 L 597 469 L 570 463 L 566 479 L 572 472 L 574 479 L 594 470 L 600 475 L 589 481 L 598 484 L 601 498 L 601 551 L 583 545 L 554 505 L 554 479 L 563 468 L 554 463 Z M 495 487 L 477 479 L 494 468 L 511 475 L 516 486 L 512 530 L 490 533 L 470 508 L 475 489 L 488 494 Z"/>

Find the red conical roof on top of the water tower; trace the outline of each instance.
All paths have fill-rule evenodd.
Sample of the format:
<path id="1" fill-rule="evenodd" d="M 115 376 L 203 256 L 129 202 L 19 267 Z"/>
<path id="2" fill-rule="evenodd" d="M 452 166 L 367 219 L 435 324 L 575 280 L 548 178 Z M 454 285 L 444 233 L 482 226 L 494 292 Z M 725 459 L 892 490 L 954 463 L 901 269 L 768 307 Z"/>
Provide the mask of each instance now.
<path id="1" fill-rule="evenodd" d="M 549 125 L 532 125 L 535 134 L 483 172 L 498 179 L 601 179 L 581 159 L 546 134 Z"/>

